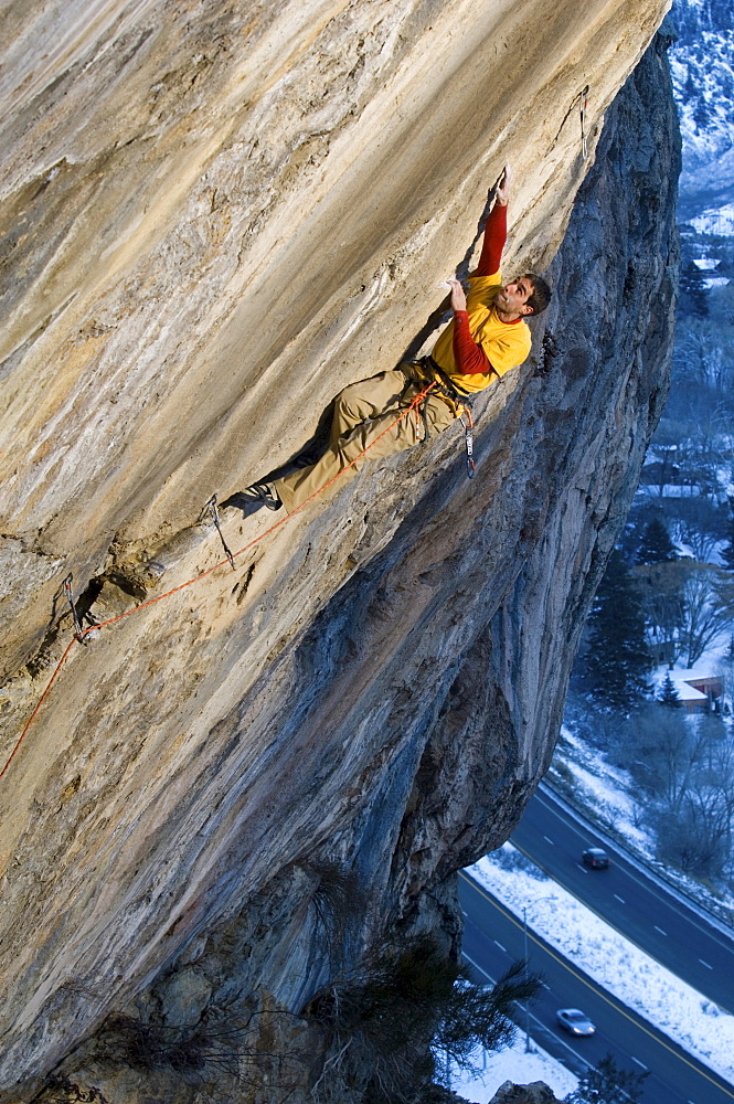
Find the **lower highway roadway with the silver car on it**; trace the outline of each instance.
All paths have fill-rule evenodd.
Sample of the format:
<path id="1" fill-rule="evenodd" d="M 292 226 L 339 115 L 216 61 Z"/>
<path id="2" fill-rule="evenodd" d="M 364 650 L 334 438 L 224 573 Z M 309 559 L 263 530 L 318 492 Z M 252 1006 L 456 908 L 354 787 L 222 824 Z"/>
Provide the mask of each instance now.
<path id="1" fill-rule="evenodd" d="M 522 921 L 518 920 L 466 872 L 459 874 L 465 913 L 464 955 L 477 977 L 497 980 L 523 958 Z M 695 1062 L 620 1001 L 529 932 L 530 968 L 543 975 L 545 988 L 530 1008 L 531 1038 L 575 1073 L 610 1053 L 627 1070 L 649 1070 L 642 1104 L 734 1104 L 734 1087 Z M 596 1034 L 572 1038 L 556 1026 L 559 1008 L 582 1008 Z M 522 1020 L 523 1017 L 521 1016 Z"/>

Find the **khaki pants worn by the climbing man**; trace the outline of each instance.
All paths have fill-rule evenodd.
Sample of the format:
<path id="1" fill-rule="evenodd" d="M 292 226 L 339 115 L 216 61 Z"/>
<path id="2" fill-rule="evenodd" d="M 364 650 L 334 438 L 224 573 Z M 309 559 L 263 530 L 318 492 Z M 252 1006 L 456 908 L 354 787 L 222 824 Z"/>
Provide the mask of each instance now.
<path id="1" fill-rule="evenodd" d="M 421 412 L 411 411 L 387 429 L 401 410 L 405 410 L 425 386 L 419 382 L 409 382 L 412 379 L 409 370 L 381 372 L 370 380 L 352 383 L 337 395 L 329 447 L 321 459 L 272 484 L 288 513 L 321 490 L 340 471 L 342 475 L 333 484 L 333 489 L 343 487 L 368 460 L 381 460 L 417 445 L 425 439 L 426 424 L 428 434 L 440 433 L 451 425 L 457 417 L 455 406 L 439 395 L 429 394 L 422 403 Z M 369 446 L 369 452 L 348 467 Z"/>

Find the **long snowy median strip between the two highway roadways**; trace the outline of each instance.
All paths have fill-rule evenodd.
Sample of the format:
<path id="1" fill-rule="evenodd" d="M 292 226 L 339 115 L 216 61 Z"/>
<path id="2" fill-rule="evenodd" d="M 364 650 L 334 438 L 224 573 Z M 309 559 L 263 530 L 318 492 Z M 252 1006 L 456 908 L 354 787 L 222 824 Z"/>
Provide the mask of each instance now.
<path id="1" fill-rule="evenodd" d="M 648 957 L 506 843 L 469 872 L 599 985 L 734 1084 L 734 1016 Z M 508 862 L 509 859 L 509 862 Z M 504 869 L 504 861 L 512 869 Z"/>

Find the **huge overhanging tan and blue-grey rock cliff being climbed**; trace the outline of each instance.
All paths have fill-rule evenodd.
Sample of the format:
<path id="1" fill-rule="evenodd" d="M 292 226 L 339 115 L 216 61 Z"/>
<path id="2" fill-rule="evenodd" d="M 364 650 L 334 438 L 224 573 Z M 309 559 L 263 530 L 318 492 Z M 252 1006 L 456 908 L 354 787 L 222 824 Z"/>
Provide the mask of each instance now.
<path id="1" fill-rule="evenodd" d="M 547 765 L 664 399 L 679 153 L 660 38 L 637 63 L 667 7 L 6 14 L 1 1101 L 71 1052 L 116 1101 L 193 1100 L 170 1063 L 119 1072 L 130 1019 L 252 1034 L 385 931 L 456 946 L 453 872 Z M 504 160 L 510 265 L 546 267 L 581 191 L 531 361 L 478 404 L 477 479 L 451 432 L 368 466 L 74 645 L 18 746 L 66 574 L 105 620 L 214 569 L 215 533 L 177 532 L 401 358 Z M 127 1050 L 109 1021 L 75 1050 L 111 1013 Z M 257 1045 L 306 1069 L 288 1023 Z"/>

